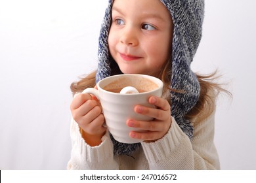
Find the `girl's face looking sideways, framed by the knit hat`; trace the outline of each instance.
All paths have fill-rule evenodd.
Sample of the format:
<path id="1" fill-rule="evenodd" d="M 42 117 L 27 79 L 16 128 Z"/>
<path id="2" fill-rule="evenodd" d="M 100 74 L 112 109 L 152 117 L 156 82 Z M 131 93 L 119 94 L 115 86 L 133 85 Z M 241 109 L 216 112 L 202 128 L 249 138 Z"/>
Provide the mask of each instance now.
<path id="1" fill-rule="evenodd" d="M 158 76 L 172 38 L 171 15 L 159 0 L 114 0 L 108 44 L 122 73 Z"/>

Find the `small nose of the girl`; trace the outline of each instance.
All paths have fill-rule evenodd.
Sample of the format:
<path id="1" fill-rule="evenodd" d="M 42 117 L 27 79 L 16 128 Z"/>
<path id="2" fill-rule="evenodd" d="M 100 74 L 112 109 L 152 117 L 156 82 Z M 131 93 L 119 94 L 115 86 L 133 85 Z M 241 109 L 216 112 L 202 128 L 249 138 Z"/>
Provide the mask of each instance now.
<path id="1" fill-rule="evenodd" d="M 127 46 L 137 46 L 139 44 L 139 40 L 137 39 L 136 30 L 132 27 L 123 28 L 120 41 Z"/>

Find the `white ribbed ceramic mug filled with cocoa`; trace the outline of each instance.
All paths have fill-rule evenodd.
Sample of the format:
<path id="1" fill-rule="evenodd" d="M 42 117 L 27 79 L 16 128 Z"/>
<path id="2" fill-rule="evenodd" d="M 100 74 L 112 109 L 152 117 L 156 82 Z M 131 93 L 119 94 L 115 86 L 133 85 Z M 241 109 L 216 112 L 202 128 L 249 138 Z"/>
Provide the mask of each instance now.
<path id="1" fill-rule="evenodd" d="M 127 86 L 136 88 L 140 93 L 119 93 L 119 90 Z M 87 88 L 83 93 L 93 94 L 100 101 L 106 125 L 114 139 L 127 144 L 141 142 L 141 140 L 129 137 L 130 131 L 138 130 L 128 127 L 126 122 L 128 119 L 153 120 L 148 116 L 137 114 L 134 108 L 135 105 L 154 107 L 148 103 L 148 98 L 152 95 L 161 97 L 163 82 L 153 76 L 126 74 L 104 78 L 97 83 L 97 87 L 98 90 Z"/>

